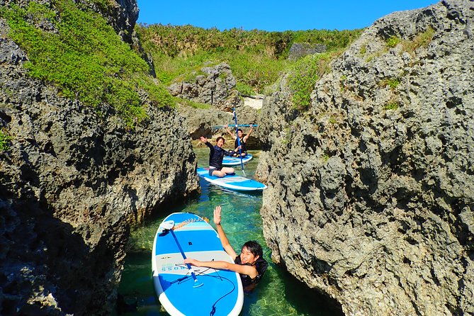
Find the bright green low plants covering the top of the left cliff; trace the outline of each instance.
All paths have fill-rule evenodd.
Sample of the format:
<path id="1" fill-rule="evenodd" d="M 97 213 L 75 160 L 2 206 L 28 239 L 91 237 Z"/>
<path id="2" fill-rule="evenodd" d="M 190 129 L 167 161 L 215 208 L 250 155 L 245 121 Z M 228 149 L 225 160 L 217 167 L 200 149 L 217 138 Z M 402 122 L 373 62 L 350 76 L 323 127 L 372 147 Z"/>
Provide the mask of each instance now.
<path id="1" fill-rule="evenodd" d="M 95 2 L 106 5 L 106 0 Z M 141 92 L 155 106 L 173 105 L 164 86 L 149 76 L 147 63 L 103 17 L 79 6 L 56 0 L 52 6 L 30 1 L 26 9 L 0 9 L 11 28 L 9 35 L 28 53 L 28 74 L 56 84 L 64 96 L 89 106 L 108 103 L 130 128 L 146 117 Z M 38 28 L 42 23 L 57 32 Z"/>

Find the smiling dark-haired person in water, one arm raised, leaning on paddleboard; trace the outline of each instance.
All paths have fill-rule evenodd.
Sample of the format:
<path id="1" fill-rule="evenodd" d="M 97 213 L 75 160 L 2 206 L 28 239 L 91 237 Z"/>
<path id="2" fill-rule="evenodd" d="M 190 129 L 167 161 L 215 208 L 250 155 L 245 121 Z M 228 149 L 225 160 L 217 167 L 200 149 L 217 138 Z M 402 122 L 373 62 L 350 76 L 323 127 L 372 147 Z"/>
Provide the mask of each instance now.
<path id="1" fill-rule="evenodd" d="M 242 286 L 245 291 L 253 290 L 257 283 L 264 276 L 268 263 L 263 258 L 264 254 L 258 242 L 251 240 L 246 242 L 241 249 L 239 256 L 229 243 L 229 239 L 225 235 L 222 226 L 220 225 L 220 213 L 222 208 L 218 205 L 214 210 L 214 224 L 217 227 L 220 242 L 225 252 L 232 258 L 235 258 L 235 264 L 227 261 L 198 261 L 196 259 L 184 259 L 185 264 L 191 266 L 203 266 L 213 269 L 230 270 L 240 274 Z"/>

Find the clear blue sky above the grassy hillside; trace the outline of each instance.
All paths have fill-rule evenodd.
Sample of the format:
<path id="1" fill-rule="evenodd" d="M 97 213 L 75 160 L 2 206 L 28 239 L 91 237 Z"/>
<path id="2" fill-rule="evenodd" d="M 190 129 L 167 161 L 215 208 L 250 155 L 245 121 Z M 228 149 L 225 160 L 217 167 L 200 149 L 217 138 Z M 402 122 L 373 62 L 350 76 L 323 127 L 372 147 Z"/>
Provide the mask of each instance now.
<path id="1" fill-rule="evenodd" d="M 220 30 L 352 30 L 394 11 L 419 9 L 434 0 L 137 0 L 138 23 L 191 24 Z"/>

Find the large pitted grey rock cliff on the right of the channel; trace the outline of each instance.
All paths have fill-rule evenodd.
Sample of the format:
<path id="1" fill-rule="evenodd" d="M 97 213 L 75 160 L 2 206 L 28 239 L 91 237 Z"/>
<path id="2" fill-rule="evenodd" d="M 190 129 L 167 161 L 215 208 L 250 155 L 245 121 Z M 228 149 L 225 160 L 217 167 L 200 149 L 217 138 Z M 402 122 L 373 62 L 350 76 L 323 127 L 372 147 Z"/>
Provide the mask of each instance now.
<path id="1" fill-rule="evenodd" d="M 346 315 L 474 313 L 474 1 L 392 13 L 297 111 L 266 98 L 273 260 Z"/>

